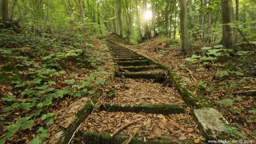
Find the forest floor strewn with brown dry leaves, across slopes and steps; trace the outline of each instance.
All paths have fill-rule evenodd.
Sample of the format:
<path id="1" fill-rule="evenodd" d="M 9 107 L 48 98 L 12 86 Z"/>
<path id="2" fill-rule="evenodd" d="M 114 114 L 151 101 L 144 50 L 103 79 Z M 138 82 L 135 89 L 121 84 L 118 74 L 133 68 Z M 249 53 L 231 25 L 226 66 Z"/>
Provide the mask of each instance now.
<path id="1" fill-rule="evenodd" d="M 188 84 L 188 86 L 199 88 L 209 99 L 209 103 L 211 103 L 232 126 L 238 128 L 238 131 L 241 134 L 249 140 L 252 140 L 252 143 L 255 143 L 256 115 L 249 111 L 256 109 L 256 93 L 247 92 L 230 94 L 246 90 L 255 90 L 256 74 L 253 72 L 254 69 L 251 69 L 252 67 L 250 65 L 245 65 L 244 69 L 247 71 L 244 71 L 244 76 L 231 75 L 223 81 L 216 82 L 213 86 L 211 85 L 212 89 L 209 91 L 206 88 L 210 89 L 209 82 L 212 81 L 216 68 L 220 68 L 222 64 L 219 61 L 214 61 L 214 64 L 219 65 L 212 65 L 212 63 L 209 63 L 207 67 L 205 67 L 200 65 L 200 62 L 191 64 L 190 62 L 183 60 L 185 58 L 190 58 L 193 54 L 202 56 L 203 50 L 201 50 L 201 48 L 203 46 L 201 44 L 193 43 L 193 51 L 189 52 L 186 56 L 181 56 L 180 41 L 174 39 L 155 38 L 137 45 L 127 45 L 127 42 L 124 39 L 120 39 L 116 35 L 110 35 L 105 39 L 124 44 L 131 50 L 167 66 L 168 69 L 171 69 L 180 75 L 187 76 L 192 82 Z M 51 37 L 51 40 L 53 42 L 55 38 Z M 24 44 L 15 46 L 18 47 L 13 51 L 14 56 L 16 57 L 10 57 L 6 54 L 0 55 L 0 96 L 3 98 L 0 100 L 0 139 L 5 137 L 5 132 L 10 128 L 10 125 L 16 124 L 20 118 L 29 117 L 31 114 L 39 111 L 37 103 L 34 104 L 37 108 L 33 107 L 34 105 L 25 109 L 16 109 L 16 107 L 13 106 L 14 103 L 19 103 L 20 101 L 22 101 L 22 103 L 30 101 L 31 95 L 29 96 L 28 94 L 22 93 L 24 90 L 27 92 L 34 86 L 39 87 L 38 84 L 24 84 L 22 85 L 22 88 L 20 88 L 16 86 L 18 84 L 17 81 L 24 82 L 33 80 L 35 78 L 33 76 L 35 75 L 29 72 L 42 71 L 45 66 L 48 67 L 48 65 L 52 64 L 50 69 L 55 68 L 59 72 L 65 71 L 65 74 L 49 75 L 49 73 L 41 73 L 41 76 L 44 76 L 44 81 L 42 82 L 54 83 L 48 84 L 48 90 L 44 90 L 43 92 L 40 89 L 35 90 L 33 94 L 35 94 L 36 97 L 41 96 L 45 98 L 50 95 L 50 93 L 53 93 L 54 89 L 65 90 L 67 87 L 69 87 L 70 93 L 66 92 L 64 96 L 62 95 L 61 97 L 53 98 L 52 104 L 54 105 L 47 104 L 44 109 L 39 111 L 40 117 L 35 115 L 35 117 L 31 118 L 31 120 L 34 120 L 34 125 L 30 125 L 24 130 L 17 129 L 18 131 L 15 131 L 11 137 L 6 139 L 6 143 L 29 143 L 33 138 L 39 137 L 40 132 L 37 132 L 39 127 L 48 129 L 47 137 L 44 141 L 47 143 L 55 143 L 60 139 L 60 136 L 56 135 L 56 133 L 63 130 L 69 130 L 68 128 L 70 126 L 74 126 L 74 123 L 72 123 L 76 120 L 76 115 L 74 114 L 78 113 L 78 111 L 82 111 L 83 107 L 86 107 L 86 102 L 91 103 L 90 106 L 94 109 L 92 113 L 91 111 L 89 112 L 90 118 L 83 120 L 81 127 L 78 129 L 78 134 L 74 138 L 74 141 L 72 141 L 73 143 L 81 142 L 82 137 L 79 137 L 80 132 L 83 134 L 84 132 L 92 133 L 94 131 L 99 133 L 108 131 L 111 133 L 120 126 L 124 126 L 128 122 L 140 118 L 143 119 L 143 121 L 127 127 L 121 131 L 121 134 L 131 136 L 140 125 L 146 123 L 146 128 L 143 128 L 143 130 L 138 132 L 139 136 L 146 136 L 146 138 L 144 137 L 144 139 L 142 139 L 144 142 L 157 137 L 165 137 L 171 139 L 172 142 L 192 140 L 192 142 L 186 142 L 199 143 L 201 140 L 202 142 L 205 141 L 205 138 L 198 130 L 197 125 L 191 116 L 193 107 L 190 107 L 183 101 L 174 84 L 170 81 L 167 71 L 155 69 L 154 65 L 145 66 L 141 63 L 141 65 L 144 66 L 142 71 L 133 71 L 132 75 L 125 75 L 130 72 L 129 70 L 131 67 L 135 67 L 135 69 L 140 68 L 140 66 L 136 67 L 135 65 L 124 66 L 126 63 L 122 62 L 122 59 L 125 58 L 125 55 L 128 56 L 130 54 L 129 50 L 123 52 L 123 57 L 118 56 L 118 54 L 114 56 L 114 51 L 118 50 L 118 48 L 116 50 L 115 48 L 112 48 L 111 51 L 111 45 L 107 46 L 108 43 L 105 41 L 97 41 L 95 39 L 91 39 L 90 43 L 94 46 L 90 48 L 90 52 L 86 53 L 84 57 L 86 60 L 91 58 L 91 61 L 82 61 L 81 57 L 79 57 L 80 59 L 72 58 L 69 56 L 70 54 L 78 54 L 81 51 L 71 52 L 69 51 L 70 49 L 67 49 L 65 54 L 68 56 L 61 57 L 61 60 L 65 62 L 62 63 L 60 62 L 61 60 L 57 59 L 57 62 L 63 64 L 62 67 L 55 67 L 53 63 L 42 60 L 46 55 L 55 54 L 60 51 L 57 47 L 54 48 L 54 46 L 47 49 L 46 54 L 33 53 L 31 55 L 29 52 L 33 52 L 34 50 L 27 49 L 27 46 Z M 67 44 L 67 46 L 68 45 L 69 44 Z M 74 48 L 71 48 L 71 50 L 79 49 L 76 48 L 75 44 L 73 44 L 73 46 Z M 245 44 L 240 46 L 248 48 Z M 64 51 L 62 52 L 64 53 Z M 111 54 L 114 56 L 113 60 Z M 20 60 L 22 58 L 24 59 L 23 62 Z M 97 60 L 95 60 L 95 58 L 97 58 Z M 143 58 L 136 56 L 136 54 L 129 55 L 129 58 L 133 58 L 135 61 L 143 61 Z M 228 61 L 231 60 L 233 59 L 229 59 Z M 116 61 L 119 63 L 116 63 L 114 66 L 113 62 Z M 93 65 L 91 65 L 90 62 L 93 62 Z M 24 69 L 17 65 L 27 66 Z M 195 79 L 193 79 L 188 71 L 184 69 L 185 67 L 193 73 Z M 225 67 L 225 69 L 228 71 L 231 67 L 232 65 Z M 202 69 L 198 70 L 200 68 Z M 109 83 L 108 80 L 114 69 L 116 71 L 116 77 Z M 236 71 L 238 70 L 239 69 Z M 141 76 L 144 77 L 134 79 L 134 76 L 138 73 L 142 74 Z M 156 77 L 148 79 L 147 77 L 152 76 L 150 75 L 151 73 L 161 75 L 163 79 L 159 80 L 156 79 Z M 73 83 L 71 83 L 71 80 L 74 80 L 72 81 Z M 79 90 L 77 87 L 82 86 L 81 81 L 91 82 L 92 85 L 88 86 L 86 90 Z M 165 85 L 163 84 L 163 81 L 165 82 Z M 204 83 L 207 84 L 206 88 L 198 85 L 198 82 L 200 81 L 204 81 Z M 35 89 L 38 89 L 38 87 L 35 87 Z M 37 92 L 40 92 L 40 94 Z M 80 95 L 74 97 L 74 93 L 72 92 L 80 92 Z M 97 97 L 98 99 L 95 99 L 95 96 L 99 94 L 101 96 Z M 14 99 L 9 97 L 10 95 L 14 96 Z M 219 104 L 216 102 L 222 100 L 225 101 L 226 99 L 229 100 L 228 103 Z M 158 105 L 159 107 L 155 109 L 159 109 L 159 111 L 150 111 L 150 109 L 147 109 L 146 107 L 139 107 L 140 105 Z M 177 105 L 178 107 L 176 107 Z M 135 106 L 137 109 L 134 108 Z M 174 111 L 166 112 L 165 106 L 175 106 L 175 109 Z M 100 109 L 98 109 L 98 107 Z M 182 110 L 180 110 L 180 108 Z M 123 111 L 120 109 L 123 109 Z M 175 111 L 178 110 L 180 111 L 175 113 Z M 50 125 L 49 122 L 51 116 L 49 116 L 48 119 L 41 118 L 42 115 L 48 113 L 54 113 L 52 117 L 53 122 Z M 248 120 L 253 121 L 249 122 Z M 75 130 L 72 130 L 72 134 L 73 131 Z M 230 135 L 230 133 L 224 135 L 226 139 L 235 138 Z M 88 140 L 89 138 L 85 141 Z"/>

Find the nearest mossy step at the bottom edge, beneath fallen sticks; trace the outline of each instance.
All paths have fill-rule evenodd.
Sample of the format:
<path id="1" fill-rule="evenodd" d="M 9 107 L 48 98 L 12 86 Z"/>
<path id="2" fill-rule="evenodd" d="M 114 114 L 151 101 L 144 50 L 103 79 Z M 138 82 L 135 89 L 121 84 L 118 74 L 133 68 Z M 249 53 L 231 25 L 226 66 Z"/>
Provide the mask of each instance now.
<path id="1" fill-rule="evenodd" d="M 122 144 L 126 139 L 129 139 L 130 136 L 118 133 L 111 138 L 108 132 L 99 133 L 98 131 L 94 131 L 88 133 L 86 131 L 78 131 L 76 137 L 81 137 L 81 140 L 86 144 Z M 146 139 L 146 137 L 147 136 L 135 136 L 130 144 L 194 144 L 192 139 L 172 142 L 173 139 L 169 137 L 158 137 L 145 142 L 144 139 Z M 206 144 L 205 141 L 201 141 L 200 143 Z"/>

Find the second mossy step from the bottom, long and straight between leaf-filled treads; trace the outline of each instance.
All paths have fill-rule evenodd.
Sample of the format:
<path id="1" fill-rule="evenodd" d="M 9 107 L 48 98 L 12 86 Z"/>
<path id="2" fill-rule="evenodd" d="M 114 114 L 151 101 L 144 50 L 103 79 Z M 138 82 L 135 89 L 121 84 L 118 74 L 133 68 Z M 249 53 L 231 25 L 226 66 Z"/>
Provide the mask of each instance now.
<path id="1" fill-rule="evenodd" d="M 106 107 L 106 108 L 105 108 Z M 183 113 L 185 112 L 185 108 L 187 105 L 135 105 L 131 106 L 121 106 L 118 104 L 111 105 L 106 104 L 105 107 L 100 107 L 101 111 L 108 111 L 109 112 L 116 112 L 116 111 L 123 111 L 123 112 L 135 112 L 135 113 L 155 113 L 155 114 L 173 114 L 173 113 Z"/>

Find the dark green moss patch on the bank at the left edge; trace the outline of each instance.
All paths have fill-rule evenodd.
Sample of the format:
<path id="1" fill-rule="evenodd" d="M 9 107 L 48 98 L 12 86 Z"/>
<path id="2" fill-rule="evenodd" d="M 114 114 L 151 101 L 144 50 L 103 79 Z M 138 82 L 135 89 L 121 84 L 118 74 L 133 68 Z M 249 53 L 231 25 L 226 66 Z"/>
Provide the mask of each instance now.
<path id="1" fill-rule="evenodd" d="M 21 71 L 20 67 L 15 67 L 13 65 L 5 65 L 1 67 L 0 83 L 1 84 L 11 84 L 15 81 L 21 81 L 24 76 L 19 74 Z"/>

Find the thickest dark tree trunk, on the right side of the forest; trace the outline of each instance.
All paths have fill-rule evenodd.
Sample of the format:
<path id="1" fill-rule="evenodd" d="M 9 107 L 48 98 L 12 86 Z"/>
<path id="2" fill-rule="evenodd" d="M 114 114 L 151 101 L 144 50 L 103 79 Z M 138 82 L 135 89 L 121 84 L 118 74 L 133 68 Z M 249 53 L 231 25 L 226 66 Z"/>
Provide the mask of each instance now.
<path id="1" fill-rule="evenodd" d="M 221 1 L 222 10 L 222 24 L 229 24 L 235 21 L 234 9 L 232 0 Z M 223 25 L 223 37 L 221 44 L 224 49 L 232 49 L 235 52 L 240 51 L 240 48 L 236 44 L 236 28 L 231 28 L 229 25 Z M 234 56 L 234 51 L 230 52 L 231 56 Z"/>

